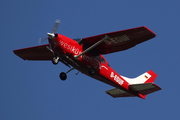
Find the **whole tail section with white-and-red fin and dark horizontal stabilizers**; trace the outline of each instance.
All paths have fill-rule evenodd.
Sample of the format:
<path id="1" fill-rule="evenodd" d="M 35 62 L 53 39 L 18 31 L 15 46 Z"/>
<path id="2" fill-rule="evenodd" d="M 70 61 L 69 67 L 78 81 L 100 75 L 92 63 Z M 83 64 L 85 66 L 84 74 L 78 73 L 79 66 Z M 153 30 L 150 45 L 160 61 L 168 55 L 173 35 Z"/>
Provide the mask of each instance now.
<path id="1" fill-rule="evenodd" d="M 136 77 L 127 78 L 121 76 L 124 80 L 129 83 L 129 90 L 124 91 L 118 88 L 107 90 L 106 93 L 112 97 L 133 97 L 138 96 L 145 99 L 147 94 L 161 90 L 159 86 L 154 84 L 154 80 L 157 75 L 152 70 Z M 133 91 L 133 92 L 132 92 Z"/>

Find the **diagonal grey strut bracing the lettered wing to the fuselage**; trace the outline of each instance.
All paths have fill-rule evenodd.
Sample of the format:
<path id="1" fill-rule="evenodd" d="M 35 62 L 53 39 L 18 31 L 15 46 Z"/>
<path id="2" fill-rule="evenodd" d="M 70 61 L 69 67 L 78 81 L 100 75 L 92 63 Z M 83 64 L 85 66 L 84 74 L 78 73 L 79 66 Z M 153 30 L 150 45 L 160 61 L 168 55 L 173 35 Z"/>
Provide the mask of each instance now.
<path id="1" fill-rule="evenodd" d="M 86 50 L 84 50 L 81 54 L 79 54 L 79 55 L 77 55 L 77 56 L 74 56 L 74 58 L 75 58 L 76 60 L 78 60 L 78 58 L 79 58 L 81 55 L 89 52 L 90 50 L 92 50 L 93 48 L 95 48 L 96 46 L 98 46 L 99 44 L 101 44 L 103 41 L 105 41 L 105 40 L 107 40 L 107 39 L 109 39 L 109 36 L 105 35 L 105 37 L 104 37 L 103 39 L 101 39 L 100 41 L 98 41 L 98 42 L 95 43 L 94 45 L 92 45 L 92 46 L 90 46 L 89 48 L 87 48 Z"/>

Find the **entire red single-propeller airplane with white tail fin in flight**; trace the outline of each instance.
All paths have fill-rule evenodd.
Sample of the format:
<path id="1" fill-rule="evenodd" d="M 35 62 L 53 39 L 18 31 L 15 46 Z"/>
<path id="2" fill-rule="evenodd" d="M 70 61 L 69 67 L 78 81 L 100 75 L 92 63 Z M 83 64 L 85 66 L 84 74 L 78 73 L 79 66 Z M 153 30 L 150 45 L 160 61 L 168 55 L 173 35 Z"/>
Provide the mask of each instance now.
<path id="1" fill-rule="evenodd" d="M 70 39 L 55 33 L 59 20 L 56 20 L 52 33 L 47 33 L 49 44 L 14 50 L 24 60 L 52 60 L 53 64 L 62 62 L 69 71 L 61 72 L 60 79 L 66 80 L 67 73 L 77 69 L 94 79 L 114 86 L 106 93 L 112 97 L 138 96 L 145 99 L 146 95 L 158 90 L 154 84 L 157 75 L 148 71 L 136 78 L 119 75 L 108 64 L 103 54 L 123 51 L 156 36 L 145 26 L 111 32 L 82 39 Z M 45 39 L 40 39 L 43 42 Z"/>

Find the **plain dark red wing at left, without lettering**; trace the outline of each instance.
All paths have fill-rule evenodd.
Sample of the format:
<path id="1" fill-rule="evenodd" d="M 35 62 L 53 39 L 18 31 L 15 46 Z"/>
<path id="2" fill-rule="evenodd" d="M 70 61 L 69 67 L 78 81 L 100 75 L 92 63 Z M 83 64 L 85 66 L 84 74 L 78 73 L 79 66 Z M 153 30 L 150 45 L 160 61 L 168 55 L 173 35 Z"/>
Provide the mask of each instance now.
<path id="1" fill-rule="evenodd" d="M 53 53 L 46 48 L 48 44 L 14 50 L 14 54 L 24 60 L 52 60 Z"/>

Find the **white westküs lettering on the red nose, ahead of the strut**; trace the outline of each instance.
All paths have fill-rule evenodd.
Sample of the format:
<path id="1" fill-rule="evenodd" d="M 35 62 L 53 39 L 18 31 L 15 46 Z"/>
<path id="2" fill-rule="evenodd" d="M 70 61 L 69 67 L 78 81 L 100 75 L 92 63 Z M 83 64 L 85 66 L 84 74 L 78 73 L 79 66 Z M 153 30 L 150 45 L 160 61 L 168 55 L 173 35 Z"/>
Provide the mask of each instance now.
<path id="1" fill-rule="evenodd" d="M 64 41 L 59 40 L 59 44 L 65 49 L 70 50 L 72 53 L 76 55 L 81 53 L 81 51 L 78 48 L 76 48 L 75 46 L 69 45 L 68 43 Z"/>

